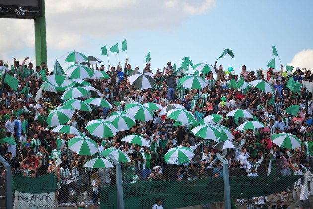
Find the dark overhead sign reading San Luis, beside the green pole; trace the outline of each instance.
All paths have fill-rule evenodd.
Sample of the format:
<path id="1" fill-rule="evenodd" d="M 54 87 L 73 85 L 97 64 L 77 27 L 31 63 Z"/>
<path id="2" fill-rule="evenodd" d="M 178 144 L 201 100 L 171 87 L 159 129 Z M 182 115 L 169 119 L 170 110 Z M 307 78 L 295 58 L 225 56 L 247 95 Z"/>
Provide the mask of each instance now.
<path id="1" fill-rule="evenodd" d="M 42 17 L 41 0 L 0 0 L 0 18 L 34 19 Z"/>

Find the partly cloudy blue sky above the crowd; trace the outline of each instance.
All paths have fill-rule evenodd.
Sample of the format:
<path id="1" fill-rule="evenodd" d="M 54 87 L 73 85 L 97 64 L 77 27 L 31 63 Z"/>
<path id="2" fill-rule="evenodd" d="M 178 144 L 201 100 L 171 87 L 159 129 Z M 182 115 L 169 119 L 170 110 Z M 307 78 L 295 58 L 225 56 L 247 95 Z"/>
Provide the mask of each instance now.
<path id="1" fill-rule="evenodd" d="M 94 2 L 94 3 L 93 3 Z M 127 39 L 128 59 L 132 68 L 142 69 L 151 51 L 151 68 L 156 72 L 167 61 L 180 67 L 182 58 L 190 56 L 193 64 L 214 65 L 225 48 L 235 57 L 220 59 L 224 70 L 232 66 L 236 73 L 241 66 L 247 70 L 265 69 L 276 58 L 276 46 L 283 65 L 307 67 L 313 70 L 313 1 L 302 0 L 104 0 L 84 4 L 82 0 L 46 1 L 48 65 L 68 51 L 98 56 L 107 68 L 107 57 L 101 47 L 109 49 Z M 5 62 L 13 57 L 29 56 L 34 62 L 33 20 L 0 19 L 7 40 L 0 52 Z M 20 32 L 17 32 L 20 31 Z M 4 38 L 4 39 L 2 39 Z M 15 46 L 15 44 L 17 46 Z M 310 59 L 311 58 L 311 59 Z M 118 56 L 109 52 L 110 65 L 116 66 Z M 69 63 L 60 61 L 64 68 Z M 49 67 L 48 66 L 48 67 Z M 193 71 L 190 70 L 190 73 Z"/>

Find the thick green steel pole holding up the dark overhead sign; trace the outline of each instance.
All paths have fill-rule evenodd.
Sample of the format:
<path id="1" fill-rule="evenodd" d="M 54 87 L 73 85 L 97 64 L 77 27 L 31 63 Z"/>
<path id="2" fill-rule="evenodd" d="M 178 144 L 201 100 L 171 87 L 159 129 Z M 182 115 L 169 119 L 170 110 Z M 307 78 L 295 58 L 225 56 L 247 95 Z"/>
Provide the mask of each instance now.
<path id="1" fill-rule="evenodd" d="M 41 0 L 41 2 L 42 2 L 42 17 L 34 19 L 36 65 L 39 66 L 41 62 L 47 63 L 45 0 Z"/>

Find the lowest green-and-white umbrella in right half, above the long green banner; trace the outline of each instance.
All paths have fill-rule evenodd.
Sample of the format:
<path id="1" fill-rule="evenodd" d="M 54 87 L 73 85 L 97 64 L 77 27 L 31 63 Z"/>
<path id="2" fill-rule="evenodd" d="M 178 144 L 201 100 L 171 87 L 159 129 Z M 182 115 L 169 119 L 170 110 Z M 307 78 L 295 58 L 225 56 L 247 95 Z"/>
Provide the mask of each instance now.
<path id="1" fill-rule="evenodd" d="M 180 165 L 190 162 L 193 156 L 195 156 L 195 153 L 190 148 L 177 146 L 170 148 L 163 158 L 168 164 Z"/>

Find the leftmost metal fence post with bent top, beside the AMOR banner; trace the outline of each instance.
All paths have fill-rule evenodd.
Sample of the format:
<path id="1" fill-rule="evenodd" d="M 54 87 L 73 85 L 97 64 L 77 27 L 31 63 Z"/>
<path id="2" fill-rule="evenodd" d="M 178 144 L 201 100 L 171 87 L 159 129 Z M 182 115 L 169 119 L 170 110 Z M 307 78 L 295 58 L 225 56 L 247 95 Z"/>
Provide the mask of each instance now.
<path id="1" fill-rule="evenodd" d="M 5 173 L 5 208 L 13 209 L 12 166 L 0 155 L 0 161 L 6 169 Z"/>

